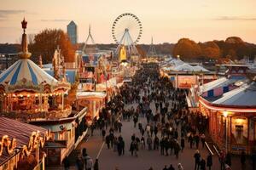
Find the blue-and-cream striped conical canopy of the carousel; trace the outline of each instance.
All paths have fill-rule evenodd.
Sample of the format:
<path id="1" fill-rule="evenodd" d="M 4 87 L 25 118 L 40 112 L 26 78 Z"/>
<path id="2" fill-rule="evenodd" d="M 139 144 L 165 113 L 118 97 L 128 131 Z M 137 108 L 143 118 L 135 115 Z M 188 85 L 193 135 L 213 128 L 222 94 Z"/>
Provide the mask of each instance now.
<path id="1" fill-rule="evenodd" d="M 24 81 L 32 82 L 33 85 L 41 82 L 51 85 L 58 82 L 30 59 L 19 59 L 0 75 L 0 84 L 8 82 L 9 85 L 15 85 Z"/>

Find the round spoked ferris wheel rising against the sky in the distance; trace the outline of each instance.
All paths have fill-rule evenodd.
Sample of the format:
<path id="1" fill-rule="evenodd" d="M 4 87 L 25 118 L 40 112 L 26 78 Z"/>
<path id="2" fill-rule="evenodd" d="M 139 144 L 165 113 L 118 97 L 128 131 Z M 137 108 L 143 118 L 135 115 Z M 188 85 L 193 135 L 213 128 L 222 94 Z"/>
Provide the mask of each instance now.
<path id="1" fill-rule="evenodd" d="M 139 42 L 143 34 L 142 22 L 135 14 L 120 14 L 112 26 L 113 40 L 119 45 L 131 46 Z"/>

